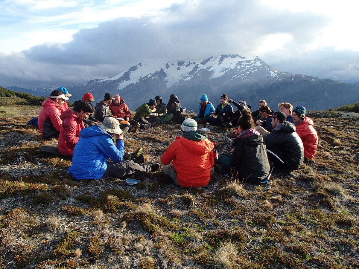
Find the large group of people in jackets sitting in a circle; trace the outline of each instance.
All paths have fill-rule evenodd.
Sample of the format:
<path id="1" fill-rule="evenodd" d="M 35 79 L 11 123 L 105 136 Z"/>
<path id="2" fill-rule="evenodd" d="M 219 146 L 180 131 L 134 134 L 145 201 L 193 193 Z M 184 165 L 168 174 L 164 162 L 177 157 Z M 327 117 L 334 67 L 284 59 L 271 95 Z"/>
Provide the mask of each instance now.
<path id="1" fill-rule="evenodd" d="M 172 94 L 167 105 L 159 95 L 150 99 L 136 109 L 132 118 L 118 94 L 105 94 L 104 100 L 93 107 L 93 95 L 86 93 L 74 102 L 72 110 L 66 104 L 69 96 L 64 87 L 53 91 L 42 104 L 38 125 L 45 139 L 58 139 L 61 154 L 72 156 L 69 173 L 75 179 L 123 178 L 139 171 L 158 170 L 159 163 L 143 164 L 141 147 L 135 152 L 125 151 L 123 133 L 145 131 L 159 124 L 181 124 L 182 135 L 171 143 L 161 161 L 168 179 L 182 187 L 206 186 L 215 162 L 223 174 L 264 183 L 271 166 L 298 169 L 304 159 L 312 160 L 317 150 L 318 136 L 303 106 L 293 109 L 289 103 L 280 103 L 279 110 L 273 112 L 261 100 L 259 109 L 252 112 L 246 101 L 237 103 L 223 94 L 215 109 L 204 94 L 197 115 L 185 118 L 178 97 Z M 198 124 L 237 128 L 233 150 L 216 157 L 216 144 L 197 130 Z"/>

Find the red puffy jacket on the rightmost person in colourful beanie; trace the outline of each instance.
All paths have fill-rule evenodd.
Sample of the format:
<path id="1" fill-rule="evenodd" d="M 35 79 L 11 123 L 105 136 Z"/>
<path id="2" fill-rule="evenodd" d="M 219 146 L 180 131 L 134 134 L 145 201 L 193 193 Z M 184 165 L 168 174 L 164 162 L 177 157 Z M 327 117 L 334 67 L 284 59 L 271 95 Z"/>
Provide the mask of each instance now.
<path id="1" fill-rule="evenodd" d="M 309 160 L 313 159 L 318 148 L 318 134 L 313 125 L 311 118 L 304 117 L 303 121 L 295 126 L 296 132 L 303 142 L 304 156 Z"/>

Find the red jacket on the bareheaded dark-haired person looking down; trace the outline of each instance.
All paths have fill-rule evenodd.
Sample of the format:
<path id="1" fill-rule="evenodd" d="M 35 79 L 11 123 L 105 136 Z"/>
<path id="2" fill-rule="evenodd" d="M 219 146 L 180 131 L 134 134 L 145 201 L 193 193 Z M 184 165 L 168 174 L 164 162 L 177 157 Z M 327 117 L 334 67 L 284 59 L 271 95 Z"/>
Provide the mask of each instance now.
<path id="1" fill-rule="evenodd" d="M 61 154 L 72 156 L 74 147 L 79 141 L 80 131 L 85 126 L 82 119 L 79 119 L 70 109 L 62 113 L 60 118 L 62 119 L 62 124 L 57 148 L 59 148 Z"/>

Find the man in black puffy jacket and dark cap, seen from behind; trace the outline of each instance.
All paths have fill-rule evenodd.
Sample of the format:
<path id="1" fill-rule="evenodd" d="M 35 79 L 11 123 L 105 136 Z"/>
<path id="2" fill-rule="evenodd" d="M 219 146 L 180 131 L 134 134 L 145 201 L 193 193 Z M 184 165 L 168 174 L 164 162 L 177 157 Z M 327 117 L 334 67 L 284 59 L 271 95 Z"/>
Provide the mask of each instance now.
<path id="1" fill-rule="evenodd" d="M 299 169 L 304 160 L 304 148 L 294 124 L 286 121 L 286 115 L 280 111 L 271 117 L 273 130 L 263 136 L 269 161 L 280 170 Z"/>

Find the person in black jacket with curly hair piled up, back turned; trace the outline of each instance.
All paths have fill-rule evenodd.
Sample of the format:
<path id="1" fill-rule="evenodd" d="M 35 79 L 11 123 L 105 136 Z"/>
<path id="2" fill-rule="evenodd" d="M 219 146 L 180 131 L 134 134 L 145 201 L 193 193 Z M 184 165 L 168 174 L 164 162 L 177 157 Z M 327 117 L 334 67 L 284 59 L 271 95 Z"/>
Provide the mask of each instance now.
<path id="1" fill-rule="evenodd" d="M 218 162 L 226 173 L 249 183 L 261 183 L 268 175 L 270 166 L 263 137 L 254 129 L 249 110 L 243 110 L 238 119 L 239 135 L 234 138 L 234 150 L 230 155 L 220 155 Z"/>

